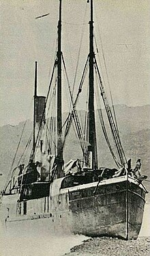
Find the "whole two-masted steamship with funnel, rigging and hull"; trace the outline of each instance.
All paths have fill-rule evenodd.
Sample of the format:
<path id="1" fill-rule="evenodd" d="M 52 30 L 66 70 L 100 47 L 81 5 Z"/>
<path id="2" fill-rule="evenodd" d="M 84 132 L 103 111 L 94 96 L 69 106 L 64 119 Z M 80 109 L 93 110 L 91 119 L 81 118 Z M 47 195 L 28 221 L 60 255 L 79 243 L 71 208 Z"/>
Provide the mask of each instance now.
<path id="1" fill-rule="evenodd" d="M 68 83 L 71 107 L 63 122 L 61 73 L 62 70 L 65 73 L 66 65 L 61 47 L 62 1 L 59 0 L 58 45 L 48 94 L 46 97 L 37 95 L 35 62 L 33 146 L 27 164 L 20 161 L 8 176 L 2 192 L 1 211 L 7 228 L 19 224 L 20 229 L 25 227 L 27 230 L 34 226 L 56 233 L 136 239 L 142 224 L 147 190 L 125 157 L 115 112 L 108 102 L 94 51 L 93 0 L 88 5 L 89 54 L 76 95 Z M 84 91 L 87 73 L 87 110 L 83 127 L 77 103 Z M 67 73 L 65 75 L 67 77 Z M 102 111 L 100 108 L 97 111 L 115 168 L 101 167 L 98 163 L 95 95 L 100 97 L 106 110 L 117 156 L 112 151 Z M 72 127 L 82 156 L 65 162 L 63 151 Z"/>

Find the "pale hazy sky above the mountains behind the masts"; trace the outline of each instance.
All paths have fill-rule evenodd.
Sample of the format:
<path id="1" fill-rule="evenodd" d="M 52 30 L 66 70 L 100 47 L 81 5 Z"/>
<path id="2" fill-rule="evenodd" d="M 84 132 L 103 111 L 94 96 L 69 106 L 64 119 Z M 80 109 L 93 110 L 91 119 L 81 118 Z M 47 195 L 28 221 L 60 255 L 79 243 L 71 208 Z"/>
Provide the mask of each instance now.
<path id="1" fill-rule="evenodd" d="M 89 4 L 86 0 L 62 2 L 63 54 L 72 84 L 81 36 L 77 81 L 89 51 Z M 1 1 L 0 125 L 17 124 L 31 118 L 35 60 L 38 62 L 38 92 L 47 92 L 56 52 L 58 6 L 58 0 Z M 35 19 L 46 13 L 50 14 Z M 94 0 L 97 47 L 102 58 L 101 35 L 116 104 L 149 104 L 149 13 L 149 0 Z M 104 64 L 102 76 L 106 78 Z"/>

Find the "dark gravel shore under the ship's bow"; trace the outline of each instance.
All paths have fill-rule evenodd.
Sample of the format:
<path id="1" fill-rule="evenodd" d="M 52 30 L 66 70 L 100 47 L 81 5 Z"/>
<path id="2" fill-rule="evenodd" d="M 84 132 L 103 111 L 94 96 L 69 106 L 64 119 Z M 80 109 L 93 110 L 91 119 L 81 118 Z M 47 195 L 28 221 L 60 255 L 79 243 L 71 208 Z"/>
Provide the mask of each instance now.
<path id="1" fill-rule="evenodd" d="M 137 240 L 120 240 L 118 238 L 89 238 L 82 244 L 70 249 L 65 256 L 149 256 L 150 236 Z M 64 256 L 64 255 L 63 255 Z"/>

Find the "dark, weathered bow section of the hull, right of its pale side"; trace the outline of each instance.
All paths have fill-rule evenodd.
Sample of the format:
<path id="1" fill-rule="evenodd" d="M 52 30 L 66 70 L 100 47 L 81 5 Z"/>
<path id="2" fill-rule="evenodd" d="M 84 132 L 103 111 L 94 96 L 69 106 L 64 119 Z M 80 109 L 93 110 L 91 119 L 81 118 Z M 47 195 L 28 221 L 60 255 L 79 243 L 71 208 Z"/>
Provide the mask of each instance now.
<path id="1" fill-rule="evenodd" d="M 126 240 L 138 237 L 145 206 L 142 189 L 136 185 L 132 188 L 125 181 L 99 187 L 96 196 L 87 196 L 88 190 L 80 191 L 84 193 L 85 197 L 70 200 L 72 231 L 93 237 L 107 235 Z"/>

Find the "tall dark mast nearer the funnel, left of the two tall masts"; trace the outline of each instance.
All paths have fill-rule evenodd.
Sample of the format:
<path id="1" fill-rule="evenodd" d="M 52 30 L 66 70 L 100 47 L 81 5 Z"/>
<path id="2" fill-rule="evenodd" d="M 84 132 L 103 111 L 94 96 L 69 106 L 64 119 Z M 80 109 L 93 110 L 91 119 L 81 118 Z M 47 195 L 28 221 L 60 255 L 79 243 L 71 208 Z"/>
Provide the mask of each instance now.
<path id="1" fill-rule="evenodd" d="M 63 177 L 62 107 L 61 107 L 61 0 L 59 0 L 57 50 L 57 177 Z"/>

